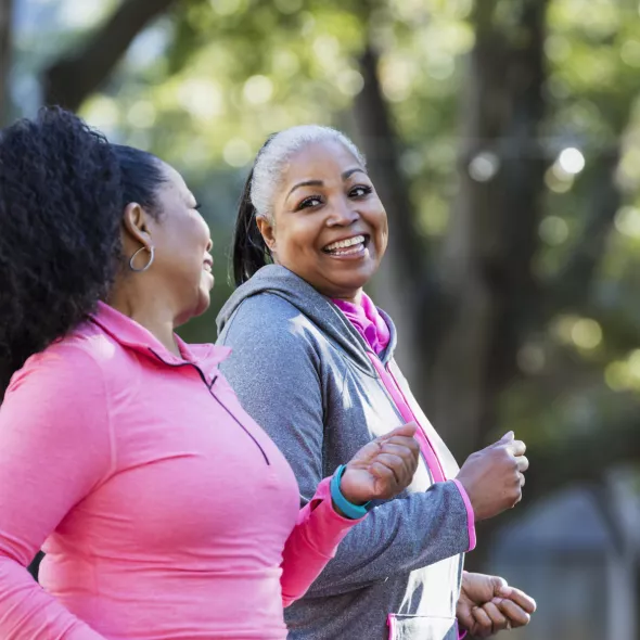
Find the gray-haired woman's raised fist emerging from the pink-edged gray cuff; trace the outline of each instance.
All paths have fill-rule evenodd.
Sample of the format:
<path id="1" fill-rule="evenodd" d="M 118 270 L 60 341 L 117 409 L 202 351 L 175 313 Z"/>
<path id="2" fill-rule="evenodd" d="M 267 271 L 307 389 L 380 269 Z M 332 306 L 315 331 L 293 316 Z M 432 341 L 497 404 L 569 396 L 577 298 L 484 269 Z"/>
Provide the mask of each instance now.
<path id="1" fill-rule="evenodd" d="M 466 490 L 476 520 L 494 517 L 522 500 L 523 474 L 529 466 L 525 450 L 525 444 L 510 431 L 466 459 L 457 479 Z"/>

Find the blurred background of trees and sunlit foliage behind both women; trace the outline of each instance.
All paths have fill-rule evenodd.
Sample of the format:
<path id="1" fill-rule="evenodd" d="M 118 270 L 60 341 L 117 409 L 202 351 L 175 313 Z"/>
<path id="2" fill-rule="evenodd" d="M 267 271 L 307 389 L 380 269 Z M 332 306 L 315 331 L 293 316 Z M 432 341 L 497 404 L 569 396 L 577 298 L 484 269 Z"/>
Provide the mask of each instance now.
<path id="1" fill-rule="evenodd" d="M 321 123 L 391 222 L 372 287 L 459 461 L 513 428 L 523 502 L 468 568 L 515 640 L 640 639 L 638 0 L 0 0 L 0 119 L 44 103 L 171 163 L 215 240 L 214 341 L 253 156 Z"/>

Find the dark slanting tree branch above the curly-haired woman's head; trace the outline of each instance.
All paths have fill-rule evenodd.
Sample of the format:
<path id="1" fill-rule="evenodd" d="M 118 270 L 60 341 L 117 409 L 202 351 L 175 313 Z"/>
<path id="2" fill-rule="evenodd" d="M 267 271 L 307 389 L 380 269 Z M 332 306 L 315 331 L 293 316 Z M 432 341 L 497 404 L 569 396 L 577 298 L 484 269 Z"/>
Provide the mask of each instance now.
<path id="1" fill-rule="evenodd" d="M 108 77 L 133 39 L 177 0 L 123 0 L 84 46 L 44 72 L 44 101 L 76 111 Z"/>

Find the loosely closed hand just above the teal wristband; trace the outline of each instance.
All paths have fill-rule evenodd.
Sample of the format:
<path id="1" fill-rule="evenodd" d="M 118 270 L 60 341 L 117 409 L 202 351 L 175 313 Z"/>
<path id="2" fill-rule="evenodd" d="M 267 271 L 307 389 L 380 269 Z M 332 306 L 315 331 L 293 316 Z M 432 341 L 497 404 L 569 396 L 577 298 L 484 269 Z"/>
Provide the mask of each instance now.
<path id="1" fill-rule="evenodd" d="M 405 489 L 418 469 L 420 447 L 411 422 L 364 445 L 350 460 L 340 490 L 353 504 L 393 498 Z"/>

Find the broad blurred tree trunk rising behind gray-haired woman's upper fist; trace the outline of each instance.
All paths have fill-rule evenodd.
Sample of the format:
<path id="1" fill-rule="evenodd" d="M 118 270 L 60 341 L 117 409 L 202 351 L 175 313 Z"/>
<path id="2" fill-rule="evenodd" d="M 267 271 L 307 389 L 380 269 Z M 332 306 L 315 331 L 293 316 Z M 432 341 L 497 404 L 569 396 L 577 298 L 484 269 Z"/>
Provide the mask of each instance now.
<path id="1" fill-rule="evenodd" d="M 430 380 L 431 414 L 458 457 L 487 444 L 537 297 L 530 263 L 545 192 L 547 2 L 513 2 L 517 24 L 509 30 L 496 26 L 496 4 L 476 5 L 460 190 L 440 261 L 457 304 Z"/>

